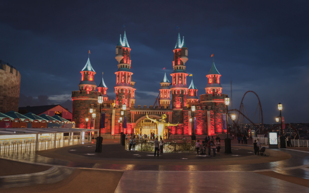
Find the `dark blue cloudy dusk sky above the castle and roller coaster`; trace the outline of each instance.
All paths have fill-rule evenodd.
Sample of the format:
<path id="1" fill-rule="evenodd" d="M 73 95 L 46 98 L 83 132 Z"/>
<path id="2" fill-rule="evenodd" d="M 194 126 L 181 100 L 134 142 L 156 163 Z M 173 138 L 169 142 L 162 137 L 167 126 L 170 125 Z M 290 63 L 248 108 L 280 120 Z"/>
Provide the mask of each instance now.
<path id="1" fill-rule="evenodd" d="M 308 8 L 309 1 L 1 1 L 0 59 L 21 74 L 19 106 L 62 104 L 71 111 L 88 50 L 96 84 L 104 72 L 107 94 L 115 98 L 115 46 L 126 24 L 135 103 L 149 107 L 163 68 L 171 81 L 180 26 L 186 72 L 198 95 L 205 93 L 214 54 L 229 97 L 233 81 L 233 108 L 252 90 L 264 123 L 275 123 L 279 102 L 286 123 L 309 122 Z M 251 119 L 257 104 L 248 93 L 244 106 Z"/>

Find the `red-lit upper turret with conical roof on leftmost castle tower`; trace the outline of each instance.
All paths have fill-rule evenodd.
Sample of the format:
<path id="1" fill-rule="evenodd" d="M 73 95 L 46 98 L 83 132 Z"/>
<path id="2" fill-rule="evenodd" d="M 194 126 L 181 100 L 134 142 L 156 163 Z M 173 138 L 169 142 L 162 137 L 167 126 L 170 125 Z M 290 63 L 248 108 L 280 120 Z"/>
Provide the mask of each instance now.
<path id="1" fill-rule="evenodd" d="M 94 75 L 96 72 L 93 70 L 90 60 L 88 58 L 87 63 L 83 70 L 81 71 L 82 81 L 79 84 L 80 90 L 95 91 L 97 85 L 94 82 Z"/>

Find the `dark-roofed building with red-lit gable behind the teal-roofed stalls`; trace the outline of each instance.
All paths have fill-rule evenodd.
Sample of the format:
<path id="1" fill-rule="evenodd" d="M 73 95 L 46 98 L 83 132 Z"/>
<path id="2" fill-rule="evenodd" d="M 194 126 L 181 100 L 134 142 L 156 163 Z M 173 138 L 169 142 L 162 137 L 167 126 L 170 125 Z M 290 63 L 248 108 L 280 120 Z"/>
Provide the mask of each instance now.
<path id="1" fill-rule="evenodd" d="M 19 107 L 19 112 L 22 114 L 25 113 L 33 113 L 35 115 L 42 115 L 42 114 L 46 114 L 49 116 L 54 116 L 54 115 L 58 115 L 59 117 L 62 117 L 66 120 L 69 121 L 74 121 L 72 120 L 72 113 L 62 107 L 61 105 L 44 105 L 44 106 L 26 106 L 26 107 Z"/>

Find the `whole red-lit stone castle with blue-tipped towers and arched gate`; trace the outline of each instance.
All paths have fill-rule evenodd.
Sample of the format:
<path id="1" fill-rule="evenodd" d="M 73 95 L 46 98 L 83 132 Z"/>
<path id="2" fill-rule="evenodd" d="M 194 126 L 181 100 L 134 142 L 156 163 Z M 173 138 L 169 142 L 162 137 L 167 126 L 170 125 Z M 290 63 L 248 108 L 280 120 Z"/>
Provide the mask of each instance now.
<path id="1" fill-rule="evenodd" d="M 173 59 L 173 72 L 171 73 L 171 82 L 164 75 L 160 88 L 160 106 L 140 105 L 135 106 L 135 90 L 134 80 L 131 72 L 131 48 L 129 46 L 126 32 L 123 40 L 119 42 L 115 49 L 115 59 L 118 61 L 118 70 L 115 72 L 115 100 L 108 100 L 106 95 L 107 86 L 102 78 L 99 86 L 94 82 L 96 72 L 91 66 L 90 60 L 81 71 L 82 81 L 79 84 L 78 91 L 72 91 L 72 121 L 75 121 L 78 128 L 99 128 L 99 109 L 98 96 L 103 97 L 101 105 L 102 112 L 105 112 L 105 128 L 101 128 L 101 136 L 105 139 L 120 138 L 123 131 L 122 124 L 119 123 L 123 104 L 126 104 L 125 116 L 127 117 L 127 128 L 124 133 L 133 134 L 141 133 L 149 135 L 151 132 L 157 134 L 157 125 L 146 118 L 160 118 L 162 114 L 167 115 L 167 120 L 172 123 L 179 122 L 178 126 L 169 126 L 166 128 L 168 136 L 184 135 L 191 136 L 194 127 L 194 121 L 190 123 L 189 119 L 195 117 L 197 119 L 197 128 L 194 131 L 197 136 L 216 135 L 226 133 L 223 130 L 222 114 L 226 113 L 224 98 L 226 94 L 222 94 L 222 86 L 220 85 L 220 73 L 217 71 L 214 62 L 212 63 L 209 73 L 206 75 L 208 83 L 205 87 L 206 93 L 197 96 L 198 89 L 195 87 L 193 80 L 189 87 L 187 86 L 187 76 L 185 63 L 188 60 L 188 49 L 181 40 L 178 33 L 177 42 Z M 170 98 L 172 94 L 172 101 Z M 191 111 L 191 106 L 196 106 L 196 111 Z M 90 109 L 96 113 L 94 123 L 86 121 L 91 118 Z"/>

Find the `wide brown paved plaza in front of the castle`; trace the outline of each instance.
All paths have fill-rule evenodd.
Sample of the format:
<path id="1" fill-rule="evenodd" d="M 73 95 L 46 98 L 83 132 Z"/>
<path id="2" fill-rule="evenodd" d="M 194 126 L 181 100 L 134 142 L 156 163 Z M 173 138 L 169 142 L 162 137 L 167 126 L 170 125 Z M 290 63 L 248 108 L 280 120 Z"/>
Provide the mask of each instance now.
<path id="1" fill-rule="evenodd" d="M 224 147 L 224 146 L 223 146 Z M 307 192 L 307 148 L 266 149 L 233 144 L 232 154 L 125 150 L 119 140 L 0 155 L 1 192 Z"/>

